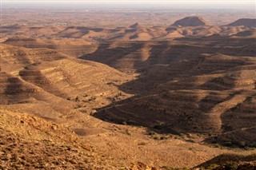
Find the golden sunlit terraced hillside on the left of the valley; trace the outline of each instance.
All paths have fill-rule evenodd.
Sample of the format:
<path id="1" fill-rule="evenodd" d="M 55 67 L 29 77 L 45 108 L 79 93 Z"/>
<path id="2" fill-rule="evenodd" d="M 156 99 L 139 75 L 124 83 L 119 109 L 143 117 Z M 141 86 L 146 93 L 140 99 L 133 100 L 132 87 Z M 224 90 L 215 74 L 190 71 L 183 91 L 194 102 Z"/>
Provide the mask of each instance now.
<path id="1" fill-rule="evenodd" d="M 5 72 L 1 73 L 2 104 L 35 98 L 90 110 L 110 104 L 111 97 L 122 93 L 115 85 L 133 78 L 106 65 L 81 61 L 50 49 L 1 47 Z M 122 93 L 119 98 L 125 95 Z"/>

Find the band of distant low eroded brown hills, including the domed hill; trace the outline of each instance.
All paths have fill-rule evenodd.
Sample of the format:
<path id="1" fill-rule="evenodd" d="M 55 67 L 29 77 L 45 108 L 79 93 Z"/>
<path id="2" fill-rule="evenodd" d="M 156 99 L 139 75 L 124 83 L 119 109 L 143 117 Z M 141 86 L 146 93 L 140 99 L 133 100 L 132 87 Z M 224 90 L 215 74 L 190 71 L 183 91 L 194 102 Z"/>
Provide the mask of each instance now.
<path id="1" fill-rule="evenodd" d="M 86 26 L 2 26 L 1 33 L 5 38 L 10 38 L 6 43 L 28 44 L 32 43 L 30 38 L 39 38 L 39 42 L 33 42 L 32 45 L 46 45 L 48 48 L 55 48 L 56 44 L 62 45 L 60 50 L 68 48 L 70 51 L 77 48 L 75 45 L 90 45 L 101 42 L 146 42 L 146 41 L 166 41 L 174 38 L 202 38 L 202 37 L 222 37 L 230 38 L 234 35 L 247 38 L 255 38 L 254 19 L 241 19 L 228 26 L 209 26 L 209 24 L 200 17 L 187 17 L 171 26 L 144 26 L 140 23 L 128 27 L 108 28 L 90 28 Z M 242 36 L 241 36 L 242 35 Z M 24 37 L 25 36 L 25 37 Z M 25 42 L 21 42 L 25 38 Z M 28 39 L 26 39 L 28 38 Z M 16 39 L 16 40 L 15 40 Z M 19 39 L 19 40 L 18 40 Z M 4 42 L 4 39 L 2 40 Z M 64 46 L 66 45 L 66 46 Z M 68 45 L 72 45 L 69 48 Z M 31 46 L 31 45 L 30 45 Z M 69 53 L 77 55 L 81 50 L 75 49 L 78 53 Z"/>

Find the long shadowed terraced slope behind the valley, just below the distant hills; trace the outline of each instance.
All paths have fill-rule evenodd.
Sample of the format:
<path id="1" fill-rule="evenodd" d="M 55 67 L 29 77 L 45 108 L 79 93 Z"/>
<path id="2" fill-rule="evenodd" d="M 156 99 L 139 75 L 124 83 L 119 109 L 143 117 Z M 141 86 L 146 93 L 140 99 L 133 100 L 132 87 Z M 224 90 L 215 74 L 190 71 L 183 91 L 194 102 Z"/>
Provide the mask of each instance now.
<path id="1" fill-rule="evenodd" d="M 244 41 L 250 43 L 251 46 L 239 45 L 246 43 Z M 149 72 L 150 70 L 146 68 L 151 65 L 156 68 L 158 65 L 158 69 L 152 69 L 154 75 L 154 71 L 158 72 L 174 62 L 194 60 L 194 57 L 198 57 L 201 53 L 218 52 L 235 56 L 255 56 L 253 43 L 254 40 L 250 38 L 246 40 L 241 38 L 181 38 L 173 42 L 105 42 L 99 45 L 94 53 L 83 55 L 81 58 L 102 62 L 124 72 L 132 70 Z M 166 79 L 165 73 L 161 75 L 162 79 Z"/>

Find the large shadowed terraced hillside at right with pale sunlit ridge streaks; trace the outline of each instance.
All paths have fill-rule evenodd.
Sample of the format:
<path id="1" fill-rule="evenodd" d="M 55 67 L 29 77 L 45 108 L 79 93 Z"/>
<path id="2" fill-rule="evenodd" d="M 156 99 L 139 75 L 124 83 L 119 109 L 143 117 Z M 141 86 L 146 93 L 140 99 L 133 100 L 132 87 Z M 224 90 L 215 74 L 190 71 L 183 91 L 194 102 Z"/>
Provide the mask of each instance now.
<path id="1" fill-rule="evenodd" d="M 222 134 L 252 128 L 255 126 L 255 69 L 254 57 L 231 57 L 221 54 L 203 55 L 194 61 L 168 65 L 165 70 L 171 81 L 155 84 L 154 89 L 150 90 L 150 95 L 146 93 L 146 90 L 149 90 L 146 88 L 141 97 L 100 109 L 95 117 L 117 123 L 142 125 L 150 129 L 156 128 L 158 132 L 174 134 Z M 146 72 L 142 80 L 129 82 L 128 86 L 142 88 L 143 85 L 150 84 L 151 80 L 147 79 L 152 77 L 151 73 L 152 70 Z M 156 74 L 154 80 L 158 77 L 163 79 L 167 76 Z M 125 87 L 122 85 L 123 89 Z M 237 114 L 243 113 L 242 116 L 234 112 L 238 108 L 241 110 Z M 248 117 L 250 123 L 246 124 Z M 230 122 L 234 125 L 230 125 Z M 253 140 L 255 138 L 251 133 L 248 142 L 251 143 Z"/>

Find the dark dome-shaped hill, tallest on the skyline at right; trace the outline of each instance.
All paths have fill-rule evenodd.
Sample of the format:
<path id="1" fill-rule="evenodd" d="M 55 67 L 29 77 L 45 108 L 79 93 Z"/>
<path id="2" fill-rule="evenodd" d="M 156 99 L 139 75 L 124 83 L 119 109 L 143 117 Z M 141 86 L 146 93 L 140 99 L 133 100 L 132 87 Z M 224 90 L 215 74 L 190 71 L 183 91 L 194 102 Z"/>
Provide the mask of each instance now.
<path id="1" fill-rule="evenodd" d="M 207 22 L 198 16 L 182 18 L 174 22 L 173 26 L 207 26 Z"/>

